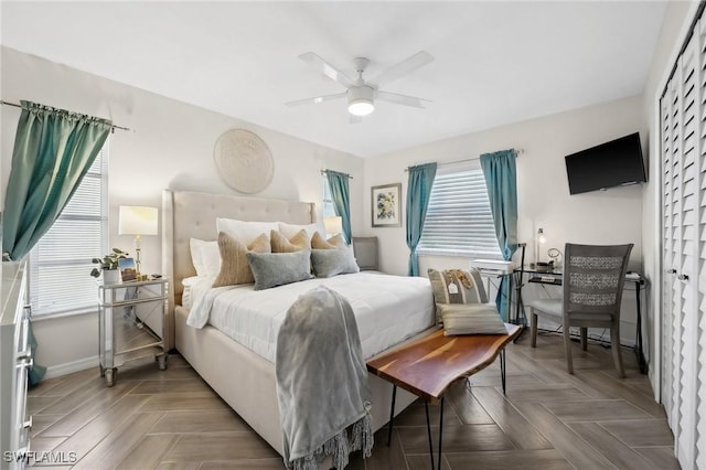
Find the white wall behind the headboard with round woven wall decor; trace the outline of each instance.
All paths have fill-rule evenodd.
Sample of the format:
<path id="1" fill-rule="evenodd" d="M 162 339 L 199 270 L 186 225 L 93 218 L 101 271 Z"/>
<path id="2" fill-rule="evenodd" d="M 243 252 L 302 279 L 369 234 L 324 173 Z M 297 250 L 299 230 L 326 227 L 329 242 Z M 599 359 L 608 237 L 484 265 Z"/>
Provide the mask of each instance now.
<path id="1" fill-rule="evenodd" d="M 320 170 L 339 170 L 353 177 L 352 225 L 360 227 L 363 223 L 360 204 L 363 199 L 363 160 L 355 156 L 7 47 L 2 47 L 1 53 L 3 100 L 19 103 L 20 99 L 28 99 L 109 118 L 114 124 L 133 130 L 116 130 L 110 137 L 110 246 L 128 252 L 132 248 L 131 236 L 117 235 L 119 205 L 160 207 L 161 193 L 165 188 L 236 193 L 221 181 L 213 162 L 216 139 L 233 128 L 254 131 L 272 153 L 272 182 L 257 196 L 311 201 L 320 210 Z M 9 179 L 19 114 L 17 108 L 2 107 L 2 193 Z M 143 237 L 142 254 L 142 271 L 159 273 L 161 238 Z M 71 320 L 36 321 L 34 325 L 40 343 L 36 356 L 39 364 L 64 366 L 66 363 L 81 363 L 97 354 L 95 314 Z"/>

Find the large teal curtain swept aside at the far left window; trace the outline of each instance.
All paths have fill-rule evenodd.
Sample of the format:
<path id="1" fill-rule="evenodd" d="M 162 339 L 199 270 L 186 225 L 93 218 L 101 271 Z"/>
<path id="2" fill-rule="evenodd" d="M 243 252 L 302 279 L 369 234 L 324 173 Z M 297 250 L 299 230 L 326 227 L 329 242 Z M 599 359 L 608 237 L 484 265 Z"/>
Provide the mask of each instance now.
<path id="1" fill-rule="evenodd" d="M 96 159 L 109 120 L 22 102 L 4 199 L 2 252 L 21 260 L 52 226 Z M 32 352 L 36 349 L 30 327 Z M 30 384 L 44 375 L 30 371 Z"/>

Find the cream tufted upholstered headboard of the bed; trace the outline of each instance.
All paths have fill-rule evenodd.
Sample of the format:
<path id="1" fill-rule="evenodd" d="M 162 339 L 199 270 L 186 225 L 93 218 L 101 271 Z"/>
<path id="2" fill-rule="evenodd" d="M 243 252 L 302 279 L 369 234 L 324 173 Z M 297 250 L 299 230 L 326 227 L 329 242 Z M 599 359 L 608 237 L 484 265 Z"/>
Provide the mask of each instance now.
<path id="1" fill-rule="evenodd" d="M 284 201 L 234 194 L 164 190 L 162 193 L 162 273 L 170 279 L 167 318 L 168 348 L 174 342 L 174 306 L 181 303 L 181 279 L 196 274 L 191 263 L 190 238 L 217 239 L 216 218 L 255 222 L 315 222 L 310 202 Z"/>

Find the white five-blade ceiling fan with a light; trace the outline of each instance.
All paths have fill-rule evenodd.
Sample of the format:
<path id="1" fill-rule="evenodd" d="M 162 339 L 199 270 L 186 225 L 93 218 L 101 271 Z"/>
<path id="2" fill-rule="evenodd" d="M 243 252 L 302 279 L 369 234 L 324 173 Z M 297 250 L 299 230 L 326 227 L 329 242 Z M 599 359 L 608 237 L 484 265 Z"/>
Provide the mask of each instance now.
<path id="1" fill-rule="evenodd" d="M 319 104 L 329 102 L 331 99 L 346 98 L 349 103 L 349 113 L 351 114 L 351 121 L 360 122 L 363 116 L 367 116 L 373 113 L 373 110 L 375 110 L 376 99 L 381 102 L 395 103 L 397 105 L 413 106 L 415 108 L 424 108 L 425 102 L 430 103 L 430 100 L 428 99 L 384 92 L 379 89 L 381 86 L 396 81 L 434 61 L 434 56 L 431 56 L 431 54 L 429 54 L 428 52 L 420 51 L 413 56 L 402 61 L 397 65 L 393 65 L 392 67 L 387 68 L 370 81 L 363 78 L 363 73 L 365 72 L 365 68 L 367 68 L 367 65 L 371 63 L 371 61 L 365 57 L 356 57 L 353 61 L 355 64 L 355 71 L 357 72 L 356 79 L 352 79 L 313 52 L 306 52 L 301 54 L 299 58 L 312 64 L 325 76 L 343 85 L 346 90 L 344 93 L 336 93 L 333 95 L 323 95 L 313 98 L 288 102 L 285 103 L 285 105 L 287 106 Z"/>

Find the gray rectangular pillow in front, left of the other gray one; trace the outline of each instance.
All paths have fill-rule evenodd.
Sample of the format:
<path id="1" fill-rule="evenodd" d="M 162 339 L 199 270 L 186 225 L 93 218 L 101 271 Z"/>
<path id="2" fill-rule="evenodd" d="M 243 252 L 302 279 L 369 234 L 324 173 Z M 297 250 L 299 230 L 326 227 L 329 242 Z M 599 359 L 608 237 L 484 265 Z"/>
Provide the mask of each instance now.
<path id="1" fill-rule="evenodd" d="M 291 253 L 249 252 L 247 260 L 255 278 L 255 290 L 269 289 L 312 277 L 308 249 Z"/>

